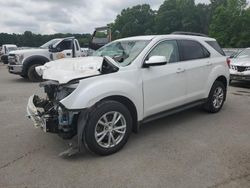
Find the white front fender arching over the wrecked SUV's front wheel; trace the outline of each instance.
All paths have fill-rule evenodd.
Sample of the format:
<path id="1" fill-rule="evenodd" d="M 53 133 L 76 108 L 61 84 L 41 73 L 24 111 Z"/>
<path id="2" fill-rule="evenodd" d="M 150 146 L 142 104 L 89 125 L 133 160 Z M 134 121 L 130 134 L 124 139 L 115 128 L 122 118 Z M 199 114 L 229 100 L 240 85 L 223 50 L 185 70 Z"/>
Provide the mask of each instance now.
<path id="1" fill-rule="evenodd" d="M 76 90 L 60 102 L 67 109 L 77 110 L 89 108 L 107 97 L 122 96 L 134 103 L 138 119 L 142 119 L 142 82 L 134 79 L 135 77 L 133 76 L 129 77 L 129 75 L 127 75 L 126 79 L 123 79 L 123 76 L 114 76 L 119 74 L 110 75 L 101 75 L 81 80 Z"/>

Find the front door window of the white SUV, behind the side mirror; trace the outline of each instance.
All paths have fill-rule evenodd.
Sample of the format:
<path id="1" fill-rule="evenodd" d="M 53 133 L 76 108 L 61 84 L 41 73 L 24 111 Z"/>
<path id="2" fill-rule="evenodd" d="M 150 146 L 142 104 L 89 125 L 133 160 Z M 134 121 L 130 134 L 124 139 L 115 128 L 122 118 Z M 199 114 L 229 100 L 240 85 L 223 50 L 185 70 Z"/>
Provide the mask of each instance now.
<path id="1" fill-rule="evenodd" d="M 176 41 L 163 41 L 149 53 L 148 58 L 151 56 L 165 56 L 168 63 L 179 61 L 178 45 Z"/>

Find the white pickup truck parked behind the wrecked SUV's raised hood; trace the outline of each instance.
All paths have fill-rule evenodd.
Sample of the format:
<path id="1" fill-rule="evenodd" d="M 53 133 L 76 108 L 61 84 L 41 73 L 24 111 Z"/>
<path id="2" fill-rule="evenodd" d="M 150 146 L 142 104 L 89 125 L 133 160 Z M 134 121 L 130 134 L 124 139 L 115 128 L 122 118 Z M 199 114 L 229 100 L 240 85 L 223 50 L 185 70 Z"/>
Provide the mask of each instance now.
<path id="1" fill-rule="evenodd" d="M 9 53 L 8 69 L 31 81 L 41 81 L 35 67 L 61 58 L 81 57 L 79 42 L 74 37 L 50 40 L 39 48 L 16 50 Z"/>

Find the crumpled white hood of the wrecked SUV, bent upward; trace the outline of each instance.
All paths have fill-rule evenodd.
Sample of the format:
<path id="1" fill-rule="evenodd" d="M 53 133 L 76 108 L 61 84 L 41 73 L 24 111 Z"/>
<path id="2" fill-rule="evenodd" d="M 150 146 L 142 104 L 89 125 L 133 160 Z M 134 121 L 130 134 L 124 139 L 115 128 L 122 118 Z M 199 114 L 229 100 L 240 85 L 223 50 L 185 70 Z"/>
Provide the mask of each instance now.
<path id="1" fill-rule="evenodd" d="M 99 75 L 103 57 L 65 58 L 36 67 L 36 72 L 45 80 L 55 80 L 60 84 L 77 78 Z"/>

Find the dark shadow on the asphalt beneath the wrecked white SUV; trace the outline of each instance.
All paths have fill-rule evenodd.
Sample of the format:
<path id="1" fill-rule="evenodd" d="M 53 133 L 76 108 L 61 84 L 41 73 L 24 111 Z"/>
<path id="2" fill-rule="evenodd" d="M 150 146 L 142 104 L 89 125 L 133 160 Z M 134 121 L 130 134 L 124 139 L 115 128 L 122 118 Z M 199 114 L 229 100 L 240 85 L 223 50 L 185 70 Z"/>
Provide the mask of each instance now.
<path id="1" fill-rule="evenodd" d="M 171 132 L 183 126 L 189 126 L 185 122 L 190 122 L 193 118 L 197 118 L 197 116 L 209 115 L 207 112 L 201 110 L 201 107 L 194 107 L 192 109 L 182 111 L 158 120 L 154 120 L 149 123 L 142 124 L 140 127 L 140 131 L 138 134 L 131 134 L 126 147 L 120 150 L 117 153 L 112 155 L 104 156 L 102 158 L 110 158 L 115 157 L 116 155 L 123 155 L 123 152 L 128 152 L 128 148 L 133 147 L 133 145 L 141 145 L 142 143 L 147 142 L 148 139 L 152 139 L 162 132 Z M 150 138 L 149 138 L 150 137 Z M 132 149 L 133 150 L 133 149 Z M 96 160 L 99 159 L 100 156 L 89 152 L 88 150 L 83 150 L 81 153 L 77 153 L 76 155 L 72 155 L 70 157 L 63 157 L 64 160 L 68 162 L 76 162 L 76 161 L 84 161 L 84 160 Z"/>

